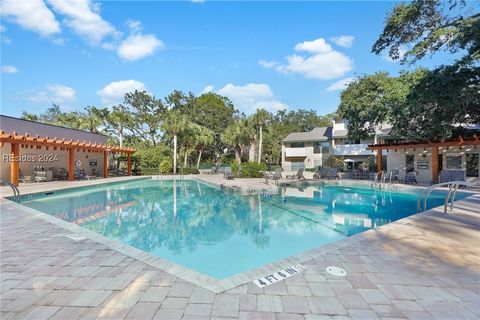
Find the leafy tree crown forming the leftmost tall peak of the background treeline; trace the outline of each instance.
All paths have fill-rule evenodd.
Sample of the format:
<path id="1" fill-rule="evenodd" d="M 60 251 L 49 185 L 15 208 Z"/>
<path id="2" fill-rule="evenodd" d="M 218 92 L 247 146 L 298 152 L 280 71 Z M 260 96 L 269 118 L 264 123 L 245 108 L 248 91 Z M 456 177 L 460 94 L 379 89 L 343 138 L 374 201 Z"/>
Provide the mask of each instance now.
<path id="1" fill-rule="evenodd" d="M 136 126 L 132 129 L 145 141 L 153 146 L 157 144 L 157 135 L 160 130 L 166 107 L 162 101 L 149 95 L 146 91 L 137 91 L 125 94 L 124 103 L 132 107 L 132 119 Z"/>

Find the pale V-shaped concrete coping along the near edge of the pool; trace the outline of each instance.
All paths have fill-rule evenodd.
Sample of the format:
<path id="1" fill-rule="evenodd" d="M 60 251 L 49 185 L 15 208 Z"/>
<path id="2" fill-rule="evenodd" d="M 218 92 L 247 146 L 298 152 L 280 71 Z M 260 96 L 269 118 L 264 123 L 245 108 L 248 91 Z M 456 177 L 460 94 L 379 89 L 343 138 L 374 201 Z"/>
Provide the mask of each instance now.
<path id="1" fill-rule="evenodd" d="M 471 196 L 475 197 L 480 197 L 480 194 L 478 193 L 472 193 Z M 162 258 L 153 256 L 147 252 L 144 252 L 142 250 L 136 249 L 130 245 L 124 244 L 118 240 L 113 240 L 107 237 L 104 237 L 100 234 L 97 234 L 93 231 L 84 229 L 78 225 L 66 222 L 64 220 L 55 218 L 53 216 L 50 216 L 46 213 L 42 213 L 38 210 L 31 209 L 29 207 L 23 206 L 21 204 L 12 202 L 8 199 L 3 198 L 4 201 L 7 201 L 10 206 L 12 206 L 16 210 L 21 210 L 23 213 L 29 214 L 34 216 L 35 218 L 42 219 L 44 221 L 50 222 L 56 226 L 59 226 L 63 229 L 66 229 L 72 233 L 77 233 L 80 235 L 83 235 L 89 240 L 95 241 L 99 244 L 102 244 L 106 246 L 107 248 L 110 248 L 112 250 L 115 250 L 119 253 L 122 253 L 126 256 L 129 256 L 133 259 L 142 261 L 146 264 L 149 264 L 153 267 L 158 268 L 159 270 L 165 271 L 167 273 L 170 273 L 176 277 L 179 277 L 183 280 L 189 281 L 195 285 L 198 285 L 202 288 L 205 288 L 207 290 L 210 290 L 214 293 L 221 293 L 230 289 L 233 289 L 235 287 L 238 287 L 240 285 L 246 284 L 248 282 L 251 282 L 253 280 L 256 280 L 258 278 L 264 277 L 265 275 L 274 273 L 280 269 L 284 269 L 287 267 L 290 267 L 294 264 L 297 263 L 302 263 L 305 261 L 308 261 L 310 259 L 315 259 L 316 257 L 319 257 L 323 254 L 326 254 L 330 251 L 340 249 L 343 247 L 346 247 L 352 243 L 359 242 L 361 240 L 364 240 L 366 238 L 369 238 L 371 235 L 375 235 L 378 232 L 388 232 L 390 229 L 397 229 L 400 225 L 402 227 L 408 226 L 410 223 L 415 222 L 417 219 L 420 219 L 423 216 L 428 216 L 433 214 L 434 212 L 441 211 L 443 212 L 443 205 L 438 206 L 435 208 L 432 208 L 431 210 L 424 211 L 418 214 L 413 214 L 409 217 L 391 222 L 389 224 L 380 226 L 375 229 L 367 230 L 365 232 L 356 234 L 354 236 L 337 240 L 325 245 L 321 245 L 317 248 L 299 253 L 294 256 L 287 257 L 285 259 L 276 261 L 271 264 L 263 265 L 259 268 L 251 269 L 246 272 L 238 273 L 233 276 L 230 276 L 228 278 L 222 279 L 222 280 L 217 280 L 215 278 L 209 277 L 205 274 L 199 273 L 197 271 L 188 269 L 186 267 L 183 267 L 181 265 L 175 264 L 173 262 L 164 260 Z M 459 200 L 458 202 L 461 202 L 462 200 Z"/>

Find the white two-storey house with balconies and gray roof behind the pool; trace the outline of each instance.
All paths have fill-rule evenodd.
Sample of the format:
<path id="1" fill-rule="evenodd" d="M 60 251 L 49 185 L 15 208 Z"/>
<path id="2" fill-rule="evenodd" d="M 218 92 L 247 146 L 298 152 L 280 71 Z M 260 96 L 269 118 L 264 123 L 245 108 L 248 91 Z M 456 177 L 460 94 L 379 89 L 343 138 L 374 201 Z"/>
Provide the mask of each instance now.
<path id="1" fill-rule="evenodd" d="M 319 127 L 309 132 L 293 132 L 282 141 L 284 171 L 323 166 L 331 155 L 332 127 Z"/>

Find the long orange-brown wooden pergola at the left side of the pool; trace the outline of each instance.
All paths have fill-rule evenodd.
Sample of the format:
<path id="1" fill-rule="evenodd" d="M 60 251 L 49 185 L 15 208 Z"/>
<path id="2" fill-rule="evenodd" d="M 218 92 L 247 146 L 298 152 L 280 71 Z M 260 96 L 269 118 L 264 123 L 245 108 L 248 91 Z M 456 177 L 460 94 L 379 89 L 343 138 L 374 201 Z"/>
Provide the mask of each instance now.
<path id="1" fill-rule="evenodd" d="M 127 155 L 127 172 L 130 176 L 132 174 L 132 153 L 135 152 L 133 148 L 108 146 L 106 144 L 97 144 L 92 142 L 80 140 L 66 140 L 61 138 L 30 136 L 28 133 L 19 135 L 16 132 L 5 133 L 0 132 L 0 146 L 4 143 L 11 144 L 10 152 L 10 182 L 18 186 L 20 174 L 20 147 L 37 149 L 45 147 L 46 150 L 53 148 L 53 150 L 68 150 L 68 180 L 75 180 L 75 150 L 83 150 L 88 152 L 100 153 L 103 152 L 103 176 L 108 177 L 108 153 L 122 153 Z"/>

